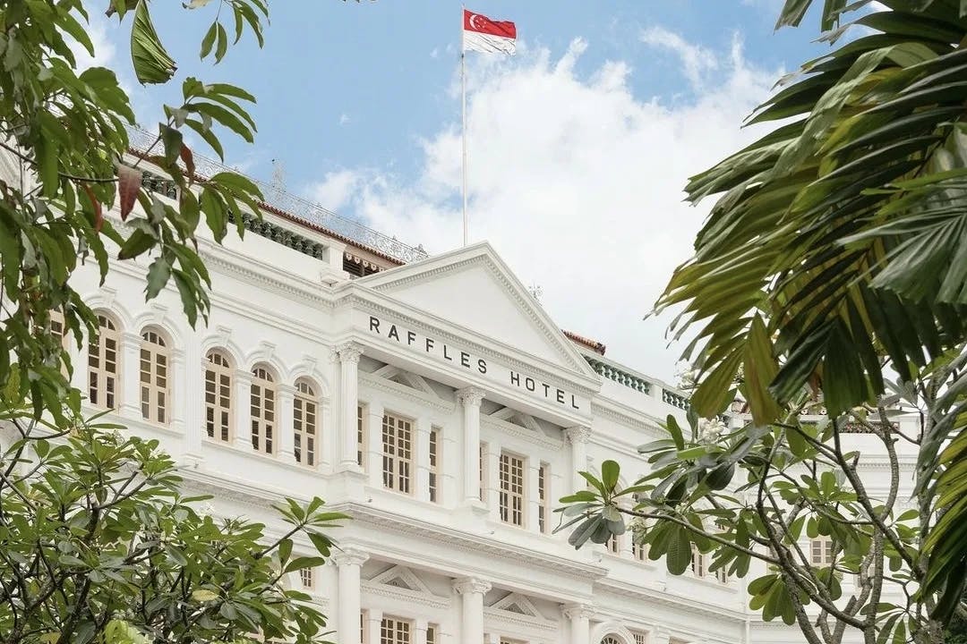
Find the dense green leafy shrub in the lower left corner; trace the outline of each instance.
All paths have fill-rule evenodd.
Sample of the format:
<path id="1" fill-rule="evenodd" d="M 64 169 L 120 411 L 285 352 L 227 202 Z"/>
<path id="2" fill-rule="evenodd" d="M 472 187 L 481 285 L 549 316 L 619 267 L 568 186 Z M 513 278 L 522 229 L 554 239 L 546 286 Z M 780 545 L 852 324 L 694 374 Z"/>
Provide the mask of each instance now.
<path id="1" fill-rule="evenodd" d="M 278 512 L 291 528 L 199 510 L 183 496 L 157 441 L 73 418 L 60 437 L 4 414 L 19 434 L 0 458 L 0 632 L 6 641 L 174 644 L 268 639 L 314 642 L 326 622 L 286 574 L 320 566 L 333 546 L 321 530 L 344 518 L 320 499 Z M 291 556 L 293 540 L 319 555 Z"/>

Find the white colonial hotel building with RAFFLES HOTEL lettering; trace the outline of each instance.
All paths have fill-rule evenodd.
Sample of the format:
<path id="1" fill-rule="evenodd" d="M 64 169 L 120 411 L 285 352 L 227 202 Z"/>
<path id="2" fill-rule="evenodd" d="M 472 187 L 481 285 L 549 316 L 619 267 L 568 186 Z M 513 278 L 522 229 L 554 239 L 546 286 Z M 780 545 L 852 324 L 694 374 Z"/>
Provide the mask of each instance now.
<path id="1" fill-rule="evenodd" d="M 144 302 L 147 262 L 115 264 L 103 287 L 79 271 L 102 334 L 74 384 L 161 439 L 220 513 L 270 534 L 282 495 L 350 515 L 331 564 L 290 580 L 337 642 L 802 641 L 700 557 L 672 576 L 628 536 L 575 551 L 552 534 L 577 469 L 645 471 L 635 447 L 684 415 L 680 392 L 562 332 L 485 242 L 420 259 L 327 221 L 269 209 L 244 240 L 204 243 L 207 328 L 173 289 Z"/>

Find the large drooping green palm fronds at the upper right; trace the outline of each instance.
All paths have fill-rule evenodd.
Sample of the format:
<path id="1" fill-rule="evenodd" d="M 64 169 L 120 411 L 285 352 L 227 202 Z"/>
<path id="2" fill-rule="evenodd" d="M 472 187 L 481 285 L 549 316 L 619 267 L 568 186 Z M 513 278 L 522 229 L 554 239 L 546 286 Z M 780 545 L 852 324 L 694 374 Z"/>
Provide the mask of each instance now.
<path id="1" fill-rule="evenodd" d="M 778 25 L 812 4 L 787 0 Z M 923 584 L 946 589 L 947 619 L 967 571 L 967 12 L 866 4 L 827 0 L 823 40 L 856 38 L 783 79 L 749 120 L 776 129 L 690 180 L 692 202 L 720 196 L 659 308 L 702 325 L 686 352 L 703 416 L 728 404 L 740 367 L 758 425 L 804 386 L 838 416 L 874 405 L 885 373 L 913 383 L 944 370 L 918 493 L 940 517 Z"/>

